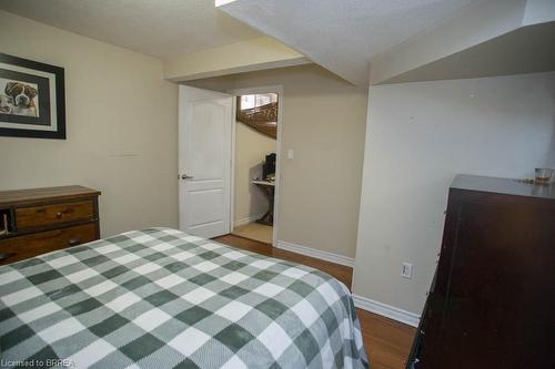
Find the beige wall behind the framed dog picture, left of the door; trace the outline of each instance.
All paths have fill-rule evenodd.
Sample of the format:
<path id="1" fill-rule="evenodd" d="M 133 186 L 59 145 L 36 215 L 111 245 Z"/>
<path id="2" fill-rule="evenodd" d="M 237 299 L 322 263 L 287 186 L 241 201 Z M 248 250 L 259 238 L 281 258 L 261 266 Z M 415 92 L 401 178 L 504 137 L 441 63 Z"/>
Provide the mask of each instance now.
<path id="1" fill-rule="evenodd" d="M 65 69 L 68 140 L 0 137 L 0 189 L 102 191 L 102 236 L 178 224 L 176 86 L 160 60 L 0 11 L 0 50 Z"/>

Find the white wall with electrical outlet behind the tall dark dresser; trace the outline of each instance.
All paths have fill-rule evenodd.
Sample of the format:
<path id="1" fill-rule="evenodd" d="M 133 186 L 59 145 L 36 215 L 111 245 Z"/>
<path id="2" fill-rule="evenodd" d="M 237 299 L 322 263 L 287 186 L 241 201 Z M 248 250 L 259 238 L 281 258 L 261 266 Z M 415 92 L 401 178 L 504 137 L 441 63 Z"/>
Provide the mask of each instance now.
<path id="1" fill-rule="evenodd" d="M 421 314 L 455 174 L 537 166 L 555 166 L 554 72 L 371 86 L 354 294 Z"/>

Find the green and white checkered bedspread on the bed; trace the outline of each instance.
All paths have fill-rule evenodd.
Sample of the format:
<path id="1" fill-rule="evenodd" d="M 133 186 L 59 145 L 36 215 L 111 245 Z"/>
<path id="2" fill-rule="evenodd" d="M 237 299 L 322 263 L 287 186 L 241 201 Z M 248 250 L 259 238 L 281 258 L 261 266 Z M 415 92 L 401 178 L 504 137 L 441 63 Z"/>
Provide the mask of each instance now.
<path id="1" fill-rule="evenodd" d="M 3 367 L 367 367 L 349 289 L 169 228 L 0 267 Z"/>

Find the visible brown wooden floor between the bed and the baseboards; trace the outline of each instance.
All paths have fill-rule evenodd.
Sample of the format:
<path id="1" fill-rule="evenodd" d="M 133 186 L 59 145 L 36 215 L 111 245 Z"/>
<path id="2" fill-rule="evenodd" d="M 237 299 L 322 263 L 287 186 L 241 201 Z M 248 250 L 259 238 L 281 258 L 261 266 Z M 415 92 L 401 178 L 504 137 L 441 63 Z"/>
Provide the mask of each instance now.
<path id="1" fill-rule="evenodd" d="M 225 235 L 215 240 L 233 247 L 248 249 L 262 255 L 304 264 L 325 271 L 351 287 L 353 268 L 320 260 L 313 257 L 285 252 L 270 244 L 260 243 L 234 235 Z M 415 334 L 413 327 L 379 315 L 356 309 L 361 321 L 364 347 L 372 369 L 401 369 L 405 367 L 408 351 Z"/>

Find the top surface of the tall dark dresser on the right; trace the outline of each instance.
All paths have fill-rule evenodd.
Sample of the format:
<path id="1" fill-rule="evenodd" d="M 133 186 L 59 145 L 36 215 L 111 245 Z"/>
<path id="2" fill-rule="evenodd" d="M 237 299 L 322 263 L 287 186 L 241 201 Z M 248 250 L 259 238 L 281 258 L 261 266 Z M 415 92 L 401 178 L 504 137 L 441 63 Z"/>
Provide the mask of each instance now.
<path id="1" fill-rule="evenodd" d="M 555 199 L 554 183 L 531 184 L 511 178 L 460 174 L 453 181 L 451 188 Z"/>

